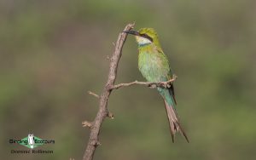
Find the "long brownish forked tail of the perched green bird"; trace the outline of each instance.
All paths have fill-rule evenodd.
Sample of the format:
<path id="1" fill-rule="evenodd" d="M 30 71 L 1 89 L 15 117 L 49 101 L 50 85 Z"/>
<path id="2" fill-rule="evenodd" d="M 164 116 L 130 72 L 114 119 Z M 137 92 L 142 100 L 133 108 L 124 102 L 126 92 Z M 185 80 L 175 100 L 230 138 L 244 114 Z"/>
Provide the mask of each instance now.
<path id="1" fill-rule="evenodd" d="M 172 134 L 172 142 L 174 142 L 175 134 L 177 132 L 180 132 L 181 134 L 183 134 L 183 136 L 189 143 L 189 138 L 187 137 L 183 128 L 181 127 L 180 123 L 178 122 L 177 112 L 175 111 L 174 106 L 169 105 L 167 103 L 166 99 L 164 99 L 164 100 L 165 100 L 165 105 L 166 105 L 166 113 L 167 113 L 170 129 L 171 129 L 171 134 Z"/>

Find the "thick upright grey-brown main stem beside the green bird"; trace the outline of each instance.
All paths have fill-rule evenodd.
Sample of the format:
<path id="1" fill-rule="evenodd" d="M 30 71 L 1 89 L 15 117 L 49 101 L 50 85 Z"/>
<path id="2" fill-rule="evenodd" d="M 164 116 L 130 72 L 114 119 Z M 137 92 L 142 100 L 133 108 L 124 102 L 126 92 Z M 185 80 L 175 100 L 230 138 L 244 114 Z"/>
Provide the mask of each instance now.
<path id="1" fill-rule="evenodd" d="M 135 24 L 128 24 L 125 26 L 124 31 L 129 31 L 133 28 Z M 119 65 L 119 59 L 122 55 L 122 49 L 123 45 L 125 43 L 125 39 L 127 37 L 127 34 L 122 32 L 119 33 L 119 37 L 117 42 L 115 43 L 115 49 L 113 52 L 113 55 L 110 59 L 110 66 L 109 66 L 109 72 L 108 72 L 108 82 L 105 85 L 105 88 L 102 91 L 102 95 L 100 96 L 100 103 L 99 103 L 99 111 L 96 114 L 96 118 L 92 125 L 90 126 L 90 138 L 86 147 L 86 150 L 84 152 L 84 160 L 92 160 L 94 152 L 96 151 L 96 147 L 100 145 L 99 142 L 99 134 L 100 129 L 102 126 L 102 122 L 105 119 L 105 117 L 112 117 L 108 113 L 108 98 L 111 94 L 113 83 L 115 81 L 116 75 L 117 75 L 117 68 Z M 112 114 L 113 115 L 113 114 Z"/>

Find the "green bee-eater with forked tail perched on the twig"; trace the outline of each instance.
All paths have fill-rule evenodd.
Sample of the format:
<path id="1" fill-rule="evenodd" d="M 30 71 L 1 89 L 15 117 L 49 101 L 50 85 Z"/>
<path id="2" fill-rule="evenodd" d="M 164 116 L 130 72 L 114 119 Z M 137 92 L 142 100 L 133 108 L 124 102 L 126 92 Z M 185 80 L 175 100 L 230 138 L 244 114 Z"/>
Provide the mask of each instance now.
<path id="1" fill-rule="evenodd" d="M 123 31 L 136 37 L 138 44 L 138 69 L 148 82 L 166 82 L 173 78 L 169 61 L 161 49 L 159 37 L 153 28 L 141 28 L 138 31 Z M 180 132 L 189 143 L 177 117 L 177 101 L 175 99 L 173 83 L 169 87 L 157 87 L 166 106 L 166 113 L 169 120 L 169 127 L 174 143 L 175 134 Z"/>

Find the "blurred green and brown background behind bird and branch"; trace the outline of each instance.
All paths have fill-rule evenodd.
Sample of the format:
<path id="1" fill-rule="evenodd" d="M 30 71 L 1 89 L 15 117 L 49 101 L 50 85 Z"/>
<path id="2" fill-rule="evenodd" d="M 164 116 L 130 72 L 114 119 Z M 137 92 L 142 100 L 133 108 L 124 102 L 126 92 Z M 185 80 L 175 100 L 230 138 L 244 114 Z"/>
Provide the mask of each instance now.
<path id="1" fill-rule="evenodd" d="M 154 89 L 114 91 L 95 159 L 255 159 L 256 3 L 253 0 L 0 1 L 1 159 L 81 159 L 108 56 L 126 24 L 153 27 L 177 75 L 177 112 L 190 143 L 175 144 Z M 129 36 L 116 83 L 144 81 Z M 28 133 L 54 154 L 11 154 Z"/>

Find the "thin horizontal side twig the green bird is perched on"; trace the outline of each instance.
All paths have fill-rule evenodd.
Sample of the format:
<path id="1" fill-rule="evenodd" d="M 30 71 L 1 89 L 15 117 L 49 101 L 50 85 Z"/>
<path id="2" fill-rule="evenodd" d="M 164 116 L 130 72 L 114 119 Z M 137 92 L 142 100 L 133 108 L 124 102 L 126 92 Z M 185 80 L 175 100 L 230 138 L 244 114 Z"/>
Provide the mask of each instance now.
<path id="1" fill-rule="evenodd" d="M 170 83 L 174 82 L 176 80 L 177 76 L 173 76 L 172 79 L 170 79 L 169 81 L 166 82 L 158 82 L 158 83 L 148 83 L 148 82 L 138 82 L 138 81 L 134 81 L 132 83 L 119 83 L 116 85 L 113 85 L 112 88 L 110 89 L 119 89 L 121 87 L 128 87 L 134 84 L 140 84 L 140 85 L 145 85 L 148 86 L 152 89 L 156 88 L 156 87 L 164 87 L 164 88 L 169 88 L 170 87 Z"/>

